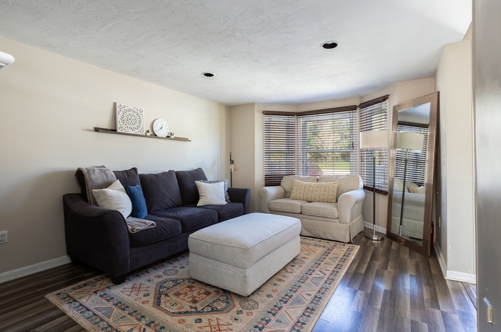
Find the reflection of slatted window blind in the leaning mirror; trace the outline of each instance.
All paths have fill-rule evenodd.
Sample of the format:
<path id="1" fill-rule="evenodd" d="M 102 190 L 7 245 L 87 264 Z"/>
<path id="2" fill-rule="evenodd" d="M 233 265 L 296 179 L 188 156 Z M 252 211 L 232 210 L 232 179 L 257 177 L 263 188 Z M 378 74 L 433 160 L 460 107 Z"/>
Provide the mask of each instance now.
<path id="1" fill-rule="evenodd" d="M 397 132 L 409 131 L 424 134 L 423 150 L 409 150 L 407 155 L 407 172 L 405 181 L 412 181 L 417 185 L 426 182 L 426 164 L 428 162 L 428 124 L 401 122 L 397 124 Z M 398 148 L 395 154 L 395 176 L 404 178 L 405 149 Z"/>

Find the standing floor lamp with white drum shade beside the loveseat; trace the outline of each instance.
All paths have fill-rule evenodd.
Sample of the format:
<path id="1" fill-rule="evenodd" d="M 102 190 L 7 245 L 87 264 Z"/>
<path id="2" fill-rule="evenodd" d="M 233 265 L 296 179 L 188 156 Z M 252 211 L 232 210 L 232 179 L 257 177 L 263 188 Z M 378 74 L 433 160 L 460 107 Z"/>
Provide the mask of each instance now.
<path id="1" fill-rule="evenodd" d="M 372 240 L 382 240 L 384 238 L 383 234 L 376 233 L 376 148 L 378 147 L 388 147 L 388 130 L 360 132 L 360 148 L 372 148 L 372 234 L 365 234 L 365 237 Z"/>

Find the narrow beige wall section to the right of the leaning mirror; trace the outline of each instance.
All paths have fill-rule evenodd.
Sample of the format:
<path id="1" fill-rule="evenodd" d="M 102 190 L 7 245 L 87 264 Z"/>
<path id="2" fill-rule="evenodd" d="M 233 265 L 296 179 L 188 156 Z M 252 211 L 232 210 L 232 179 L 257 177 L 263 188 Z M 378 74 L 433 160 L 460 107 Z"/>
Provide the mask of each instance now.
<path id="1" fill-rule="evenodd" d="M 452 277 L 455 272 L 475 274 L 471 68 L 468 29 L 463 41 L 444 46 L 435 75 L 435 89 L 440 91 L 441 177 L 436 242 Z"/>

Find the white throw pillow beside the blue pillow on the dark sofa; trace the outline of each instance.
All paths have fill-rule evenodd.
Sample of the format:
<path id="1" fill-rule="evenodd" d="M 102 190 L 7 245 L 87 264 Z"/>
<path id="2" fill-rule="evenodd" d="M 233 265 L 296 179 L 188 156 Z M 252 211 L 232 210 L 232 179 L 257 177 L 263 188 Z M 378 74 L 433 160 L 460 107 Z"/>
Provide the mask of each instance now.
<path id="1" fill-rule="evenodd" d="M 92 189 L 97 204 L 100 207 L 117 210 L 124 218 L 132 212 L 132 202 L 119 180 L 113 182 L 106 189 Z"/>

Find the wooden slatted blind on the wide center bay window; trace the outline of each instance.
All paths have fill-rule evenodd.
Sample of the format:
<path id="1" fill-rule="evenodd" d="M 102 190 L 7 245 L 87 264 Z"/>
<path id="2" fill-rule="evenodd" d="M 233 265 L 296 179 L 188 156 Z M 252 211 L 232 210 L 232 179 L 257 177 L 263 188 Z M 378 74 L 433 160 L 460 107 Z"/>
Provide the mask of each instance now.
<path id="1" fill-rule="evenodd" d="M 298 174 L 357 173 L 357 106 L 297 114 Z"/>

